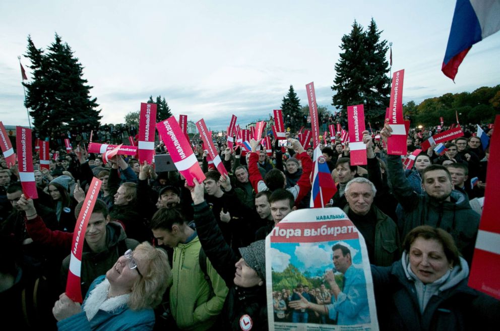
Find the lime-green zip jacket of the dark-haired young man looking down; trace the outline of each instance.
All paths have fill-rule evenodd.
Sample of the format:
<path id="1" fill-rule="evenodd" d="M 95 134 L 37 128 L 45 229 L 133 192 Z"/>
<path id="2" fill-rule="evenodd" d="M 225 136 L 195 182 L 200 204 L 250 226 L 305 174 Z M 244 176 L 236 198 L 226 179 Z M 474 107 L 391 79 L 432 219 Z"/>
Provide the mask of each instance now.
<path id="1" fill-rule="evenodd" d="M 205 280 L 199 262 L 200 248 L 196 236 L 187 244 L 179 243 L 173 250 L 170 310 L 177 326 L 183 330 L 210 328 L 220 314 L 228 292 L 208 258 L 207 274 L 212 286 Z"/>

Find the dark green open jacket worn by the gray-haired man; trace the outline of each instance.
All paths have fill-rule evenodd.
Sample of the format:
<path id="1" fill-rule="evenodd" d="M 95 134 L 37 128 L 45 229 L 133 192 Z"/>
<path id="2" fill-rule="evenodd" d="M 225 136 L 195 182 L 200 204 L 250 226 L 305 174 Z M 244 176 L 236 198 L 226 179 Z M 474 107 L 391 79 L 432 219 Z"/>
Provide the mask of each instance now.
<path id="1" fill-rule="evenodd" d="M 389 266 L 401 257 L 398 227 L 391 217 L 382 212 L 374 204 L 371 208 L 375 211 L 377 223 L 375 225 L 375 260 L 371 264 Z M 348 214 L 349 205 L 344 207 Z"/>

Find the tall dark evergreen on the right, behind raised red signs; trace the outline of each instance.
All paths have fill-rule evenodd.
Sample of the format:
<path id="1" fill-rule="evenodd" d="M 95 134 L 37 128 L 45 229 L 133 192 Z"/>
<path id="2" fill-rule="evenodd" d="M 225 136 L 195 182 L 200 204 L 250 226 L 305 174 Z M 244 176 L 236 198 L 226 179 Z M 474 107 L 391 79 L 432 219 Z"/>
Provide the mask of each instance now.
<path id="1" fill-rule="evenodd" d="M 350 34 L 342 37 L 340 60 L 335 64 L 332 105 L 347 110 L 348 105 L 363 104 L 366 122 L 383 120 L 391 92 L 388 46 L 380 40 L 382 31 L 372 19 L 368 29 L 354 21 Z"/>

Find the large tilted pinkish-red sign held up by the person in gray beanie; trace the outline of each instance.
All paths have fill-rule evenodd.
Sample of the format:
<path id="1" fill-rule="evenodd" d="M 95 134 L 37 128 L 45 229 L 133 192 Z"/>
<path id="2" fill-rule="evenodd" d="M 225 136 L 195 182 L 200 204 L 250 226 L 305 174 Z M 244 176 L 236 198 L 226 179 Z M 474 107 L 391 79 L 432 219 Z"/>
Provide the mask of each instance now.
<path id="1" fill-rule="evenodd" d="M 206 177 L 175 117 L 172 116 L 163 122 L 157 123 L 156 128 L 161 136 L 161 140 L 165 143 L 170 157 L 172 157 L 175 168 L 186 179 L 188 185 L 194 185 L 194 178 L 198 180 L 198 183 L 203 183 Z"/>

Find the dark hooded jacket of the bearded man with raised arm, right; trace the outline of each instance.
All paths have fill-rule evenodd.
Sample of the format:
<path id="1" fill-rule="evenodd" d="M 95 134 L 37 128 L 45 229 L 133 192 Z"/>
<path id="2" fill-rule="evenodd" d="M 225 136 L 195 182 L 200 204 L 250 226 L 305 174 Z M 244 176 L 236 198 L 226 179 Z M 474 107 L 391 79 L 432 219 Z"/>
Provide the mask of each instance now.
<path id="1" fill-rule="evenodd" d="M 421 225 L 441 228 L 452 235 L 459 251 L 470 265 L 480 216 L 471 209 L 467 196 L 453 190 L 450 194 L 451 201 L 440 202 L 427 193 L 415 193 L 404 175 L 399 155 L 387 156 L 387 168 L 394 196 L 403 207 L 402 218 L 398 221 L 402 237 Z"/>

